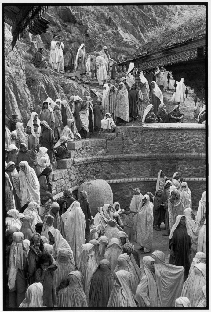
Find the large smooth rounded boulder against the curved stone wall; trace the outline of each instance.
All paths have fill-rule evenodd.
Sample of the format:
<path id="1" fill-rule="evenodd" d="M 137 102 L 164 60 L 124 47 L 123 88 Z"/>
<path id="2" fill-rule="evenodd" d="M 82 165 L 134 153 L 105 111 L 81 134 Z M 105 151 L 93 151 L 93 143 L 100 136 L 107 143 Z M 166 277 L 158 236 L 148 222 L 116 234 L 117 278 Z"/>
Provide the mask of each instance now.
<path id="1" fill-rule="evenodd" d="M 86 191 L 88 194 L 88 202 L 93 217 L 97 213 L 97 207 L 103 207 L 104 204 L 113 205 L 112 189 L 104 180 L 98 179 L 82 183 L 78 188 L 78 199 L 81 191 Z"/>

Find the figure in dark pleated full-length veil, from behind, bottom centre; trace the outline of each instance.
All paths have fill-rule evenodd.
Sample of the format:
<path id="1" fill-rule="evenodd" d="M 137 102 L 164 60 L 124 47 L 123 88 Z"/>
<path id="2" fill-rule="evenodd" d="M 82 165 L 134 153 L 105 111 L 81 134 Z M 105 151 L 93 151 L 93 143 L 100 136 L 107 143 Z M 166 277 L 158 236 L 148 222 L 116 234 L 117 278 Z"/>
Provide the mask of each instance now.
<path id="1" fill-rule="evenodd" d="M 92 275 L 89 290 L 90 307 L 107 307 L 113 284 L 110 261 L 103 259 Z"/>

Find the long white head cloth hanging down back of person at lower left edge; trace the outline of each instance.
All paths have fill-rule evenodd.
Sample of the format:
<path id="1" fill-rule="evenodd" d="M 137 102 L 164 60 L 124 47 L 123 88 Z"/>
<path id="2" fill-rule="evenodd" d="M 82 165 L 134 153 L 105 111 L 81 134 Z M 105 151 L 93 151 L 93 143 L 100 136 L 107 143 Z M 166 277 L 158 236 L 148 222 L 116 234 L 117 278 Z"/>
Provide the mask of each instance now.
<path id="1" fill-rule="evenodd" d="M 18 269 L 23 270 L 23 242 L 24 235 L 21 232 L 13 233 L 13 242 L 10 248 L 9 266 L 8 266 L 8 286 L 9 289 L 15 287 L 15 280 Z"/>

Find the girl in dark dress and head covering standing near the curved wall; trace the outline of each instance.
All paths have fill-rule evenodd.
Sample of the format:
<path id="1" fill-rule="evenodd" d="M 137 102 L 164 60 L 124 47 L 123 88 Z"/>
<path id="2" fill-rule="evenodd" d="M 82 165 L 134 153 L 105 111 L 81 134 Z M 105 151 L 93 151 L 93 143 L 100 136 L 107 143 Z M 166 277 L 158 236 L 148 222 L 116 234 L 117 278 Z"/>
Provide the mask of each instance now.
<path id="1" fill-rule="evenodd" d="M 153 217 L 154 217 L 154 225 L 156 231 L 161 231 L 163 229 L 160 228 L 160 224 L 165 221 L 165 212 L 163 207 L 165 206 L 162 203 L 161 198 L 162 192 L 159 188 L 157 188 L 154 196 L 154 205 L 153 205 Z"/>

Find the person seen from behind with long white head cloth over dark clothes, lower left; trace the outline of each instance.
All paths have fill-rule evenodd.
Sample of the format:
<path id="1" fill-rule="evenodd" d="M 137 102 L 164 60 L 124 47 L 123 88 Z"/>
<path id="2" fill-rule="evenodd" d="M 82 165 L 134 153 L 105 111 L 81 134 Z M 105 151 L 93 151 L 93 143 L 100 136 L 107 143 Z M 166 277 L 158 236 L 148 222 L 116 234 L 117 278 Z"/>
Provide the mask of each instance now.
<path id="1" fill-rule="evenodd" d="M 11 308 L 16 308 L 25 298 L 27 288 L 28 260 L 23 250 L 23 233 L 13 233 L 13 242 L 10 247 L 9 265 L 7 270 L 9 302 Z M 16 299 L 16 300 L 15 300 Z M 16 301 L 16 305 L 15 302 Z"/>

